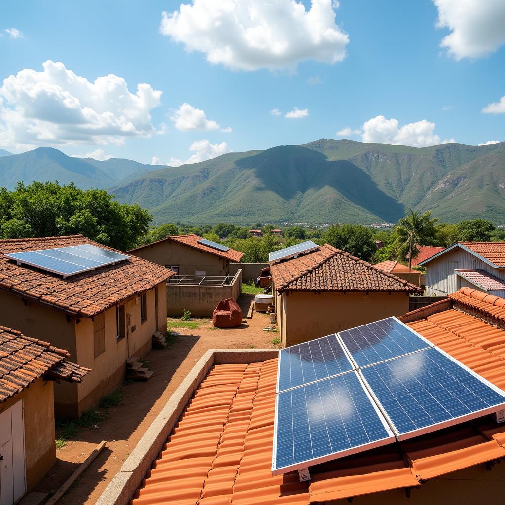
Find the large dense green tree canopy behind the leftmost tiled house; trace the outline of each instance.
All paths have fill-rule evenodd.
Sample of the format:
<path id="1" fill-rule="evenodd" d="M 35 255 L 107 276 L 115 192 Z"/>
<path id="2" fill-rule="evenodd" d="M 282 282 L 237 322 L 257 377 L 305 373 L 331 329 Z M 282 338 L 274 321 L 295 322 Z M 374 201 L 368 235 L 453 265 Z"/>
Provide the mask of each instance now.
<path id="1" fill-rule="evenodd" d="M 153 217 L 138 205 L 120 204 L 106 190 L 73 183 L 18 183 L 0 189 L 0 237 L 48 237 L 82 233 L 87 238 L 130 249 L 141 243 Z"/>

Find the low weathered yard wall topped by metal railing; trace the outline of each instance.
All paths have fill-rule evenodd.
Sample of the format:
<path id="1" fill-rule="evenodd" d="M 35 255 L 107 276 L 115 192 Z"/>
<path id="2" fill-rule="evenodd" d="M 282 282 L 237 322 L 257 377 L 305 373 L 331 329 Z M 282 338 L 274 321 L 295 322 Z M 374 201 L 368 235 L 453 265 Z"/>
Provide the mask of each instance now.
<path id="1" fill-rule="evenodd" d="M 199 286 L 167 284 L 167 315 L 181 317 L 184 310 L 196 317 L 211 317 L 221 300 L 238 299 L 242 292 L 241 270 L 233 278 L 231 286 Z"/>

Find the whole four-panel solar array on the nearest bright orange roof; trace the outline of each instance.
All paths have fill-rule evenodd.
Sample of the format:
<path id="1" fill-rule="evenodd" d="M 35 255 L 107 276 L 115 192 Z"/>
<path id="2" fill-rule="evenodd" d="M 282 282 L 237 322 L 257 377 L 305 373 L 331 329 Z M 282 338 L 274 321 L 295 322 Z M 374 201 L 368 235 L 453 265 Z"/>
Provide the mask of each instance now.
<path id="1" fill-rule="evenodd" d="M 396 318 L 281 349 L 272 474 L 505 408 L 505 392 Z"/>

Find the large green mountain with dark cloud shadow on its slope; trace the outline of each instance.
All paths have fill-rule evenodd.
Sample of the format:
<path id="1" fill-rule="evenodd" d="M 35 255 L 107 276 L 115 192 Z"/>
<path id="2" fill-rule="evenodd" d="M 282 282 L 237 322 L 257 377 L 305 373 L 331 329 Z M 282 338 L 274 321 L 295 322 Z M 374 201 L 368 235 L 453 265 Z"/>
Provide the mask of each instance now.
<path id="1" fill-rule="evenodd" d="M 413 207 L 446 222 L 498 225 L 505 142 L 416 148 L 320 139 L 163 168 L 111 190 L 156 223 L 394 223 Z"/>

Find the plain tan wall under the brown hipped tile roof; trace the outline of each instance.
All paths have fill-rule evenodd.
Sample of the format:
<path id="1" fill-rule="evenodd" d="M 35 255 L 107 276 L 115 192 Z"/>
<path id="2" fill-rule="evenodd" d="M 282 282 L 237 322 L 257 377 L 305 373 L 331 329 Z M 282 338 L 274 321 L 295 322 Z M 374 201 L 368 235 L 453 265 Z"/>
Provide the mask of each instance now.
<path id="1" fill-rule="evenodd" d="M 280 305 L 280 308 L 279 308 Z M 282 293 L 277 303 L 284 347 L 409 312 L 408 293 Z"/>

